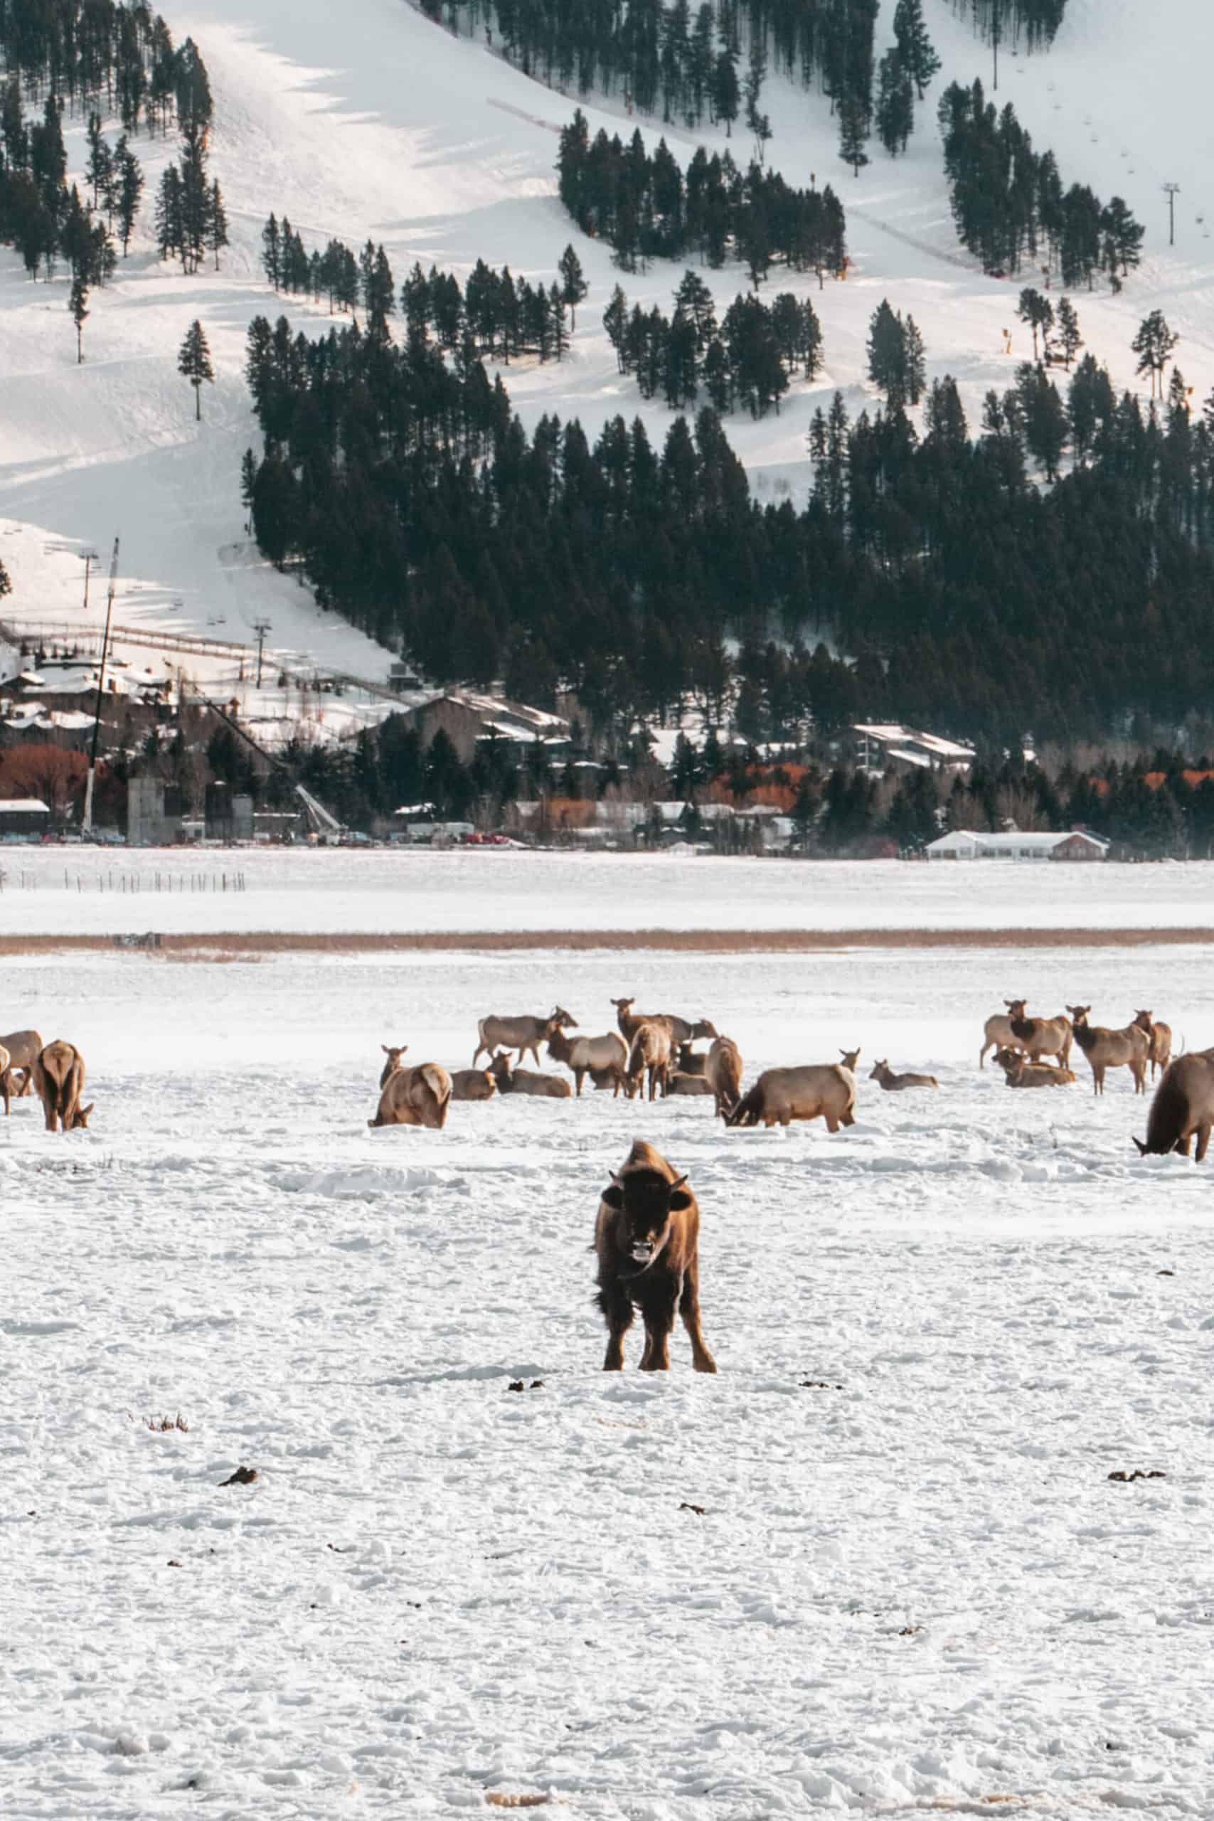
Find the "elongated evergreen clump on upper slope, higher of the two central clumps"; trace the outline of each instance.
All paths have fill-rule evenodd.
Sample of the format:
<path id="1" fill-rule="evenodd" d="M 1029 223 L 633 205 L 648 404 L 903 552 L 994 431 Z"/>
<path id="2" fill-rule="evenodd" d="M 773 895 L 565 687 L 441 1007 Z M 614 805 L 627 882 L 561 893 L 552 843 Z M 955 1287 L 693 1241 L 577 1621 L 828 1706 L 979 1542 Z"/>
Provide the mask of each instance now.
<path id="1" fill-rule="evenodd" d="M 770 266 L 839 273 L 846 253 L 843 206 L 830 184 L 794 189 L 752 162 L 746 173 L 701 146 L 686 171 L 663 138 L 650 155 L 641 133 L 628 146 L 601 129 L 590 138 L 581 107 L 561 131 L 561 200 L 582 229 L 615 249 L 624 271 L 650 259 L 699 253 L 719 268 L 735 257 L 757 288 Z"/>

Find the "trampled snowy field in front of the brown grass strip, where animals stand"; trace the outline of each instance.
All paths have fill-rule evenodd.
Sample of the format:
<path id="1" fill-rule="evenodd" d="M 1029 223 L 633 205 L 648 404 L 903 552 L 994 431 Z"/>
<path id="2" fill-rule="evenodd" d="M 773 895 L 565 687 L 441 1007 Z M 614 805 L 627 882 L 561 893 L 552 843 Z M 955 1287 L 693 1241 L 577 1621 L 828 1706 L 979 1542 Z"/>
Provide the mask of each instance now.
<path id="1" fill-rule="evenodd" d="M 4 978 L 96 1102 L 0 1122 L 5 1817 L 1210 1814 L 1210 1178 L 1138 1158 L 1123 1074 L 976 1067 L 1005 991 L 1214 1040 L 1207 951 Z M 861 1043 L 857 1125 L 595 1094 L 366 1129 L 380 1042 L 466 1063 L 490 1009 L 593 1031 L 628 991 L 748 1078 Z M 599 1371 L 635 1134 L 699 1193 L 717 1378 L 683 1333 L 661 1382 L 635 1337 Z"/>

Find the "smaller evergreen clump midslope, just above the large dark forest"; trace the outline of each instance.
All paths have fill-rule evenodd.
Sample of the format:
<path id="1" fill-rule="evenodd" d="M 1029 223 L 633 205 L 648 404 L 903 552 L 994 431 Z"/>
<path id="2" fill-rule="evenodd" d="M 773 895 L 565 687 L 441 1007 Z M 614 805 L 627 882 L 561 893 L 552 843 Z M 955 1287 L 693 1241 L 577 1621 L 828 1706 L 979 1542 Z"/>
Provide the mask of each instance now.
<path id="1" fill-rule="evenodd" d="M 717 322 L 712 291 L 695 271 L 683 275 L 673 319 L 657 304 L 630 311 L 617 284 L 602 324 L 621 373 L 635 373 L 641 397 L 661 395 L 673 410 L 693 404 L 703 390 L 721 415 L 743 404 L 764 417 L 779 410 L 797 364 L 806 381 L 823 364 L 823 330 L 808 299 L 781 291 L 768 306 L 737 297 Z"/>

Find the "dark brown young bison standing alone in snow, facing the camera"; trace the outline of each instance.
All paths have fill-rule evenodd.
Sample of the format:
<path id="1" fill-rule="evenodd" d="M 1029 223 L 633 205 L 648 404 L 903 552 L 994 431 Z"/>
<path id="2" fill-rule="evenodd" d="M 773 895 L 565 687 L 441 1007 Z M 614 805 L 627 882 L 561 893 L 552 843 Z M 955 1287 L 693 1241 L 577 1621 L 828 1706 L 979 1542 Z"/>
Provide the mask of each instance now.
<path id="1" fill-rule="evenodd" d="M 599 1307 L 608 1324 L 604 1371 L 624 1369 L 633 1309 L 644 1322 L 641 1371 L 670 1371 L 675 1309 L 692 1340 L 695 1371 L 715 1371 L 699 1322 L 699 1206 L 666 1158 L 637 1138 L 612 1171 L 595 1218 Z"/>

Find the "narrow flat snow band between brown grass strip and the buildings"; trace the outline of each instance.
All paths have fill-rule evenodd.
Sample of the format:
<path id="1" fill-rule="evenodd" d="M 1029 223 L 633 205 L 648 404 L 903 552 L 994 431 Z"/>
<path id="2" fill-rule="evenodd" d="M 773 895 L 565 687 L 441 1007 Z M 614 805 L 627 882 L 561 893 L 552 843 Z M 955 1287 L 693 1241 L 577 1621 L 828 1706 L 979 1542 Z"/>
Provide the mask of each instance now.
<path id="1" fill-rule="evenodd" d="M 244 890 L 224 890 L 224 874 L 240 874 Z M 1201 861 L 806 865 L 510 849 L 0 849 L 0 936 L 1203 929 L 1212 896 L 1214 867 Z"/>

